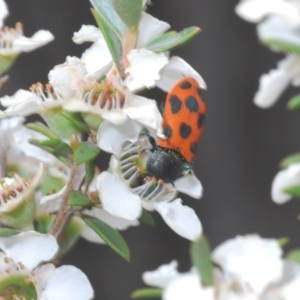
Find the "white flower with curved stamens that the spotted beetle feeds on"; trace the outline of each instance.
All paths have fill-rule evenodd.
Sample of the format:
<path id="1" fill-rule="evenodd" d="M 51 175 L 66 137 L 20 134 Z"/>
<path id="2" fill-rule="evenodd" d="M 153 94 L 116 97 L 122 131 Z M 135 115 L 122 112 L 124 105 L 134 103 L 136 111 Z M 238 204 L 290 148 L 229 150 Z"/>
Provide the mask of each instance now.
<path id="1" fill-rule="evenodd" d="M 197 239 L 201 223 L 195 211 L 181 204 L 181 199 L 172 201 L 177 191 L 199 198 L 202 187 L 199 180 L 189 174 L 171 183 L 163 183 L 151 176 L 141 175 L 136 162 L 138 158 L 151 156 L 148 138 L 141 136 L 136 143 L 128 143 L 117 158 L 112 156 L 110 168 L 97 179 L 97 187 L 103 209 L 120 218 L 135 220 L 142 209 L 156 210 L 165 222 L 179 235 Z M 144 152 L 145 150 L 145 152 Z"/>

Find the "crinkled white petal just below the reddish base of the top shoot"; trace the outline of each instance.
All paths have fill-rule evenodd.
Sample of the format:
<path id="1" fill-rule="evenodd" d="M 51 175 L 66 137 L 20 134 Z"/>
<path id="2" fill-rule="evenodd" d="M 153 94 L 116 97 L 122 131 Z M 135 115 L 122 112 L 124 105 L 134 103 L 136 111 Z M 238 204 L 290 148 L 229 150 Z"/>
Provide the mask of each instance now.
<path id="1" fill-rule="evenodd" d="M 130 91 L 154 86 L 155 81 L 160 78 L 160 70 L 168 63 L 164 53 L 154 53 L 146 49 L 133 49 L 127 58 L 130 67 L 125 70 L 129 74 L 126 86 Z"/>

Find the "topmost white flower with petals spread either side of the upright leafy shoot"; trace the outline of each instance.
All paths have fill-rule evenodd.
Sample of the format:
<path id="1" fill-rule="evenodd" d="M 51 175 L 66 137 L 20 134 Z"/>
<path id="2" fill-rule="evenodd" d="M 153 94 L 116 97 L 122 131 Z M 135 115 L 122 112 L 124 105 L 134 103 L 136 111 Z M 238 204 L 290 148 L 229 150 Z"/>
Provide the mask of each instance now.
<path id="1" fill-rule="evenodd" d="M 167 91 L 182 77 L 193 77 L 199 82 L 202 89 L 206 88 L 202 77 L 182 59 L 175 57 L 173 61 L 173 58 L 169 59 L 165 53 L 154 53 L 145 49 L 148 42 L 169 28 L 168 23 L 145 12 L 142 13 L 136 48 L 129 51 L 127 55 L 129 65 L 126 66 L 127 76 L 123 84 L 130 91 L 134 92 L 155 85 Z M 112 66 L 112 57 L 99 29 L 84 25 L 79 32 L 74 34 L 73 41 L 76 43 L 94 42 L 81 58 L 86 63 L 90 74 L 101 77 L 107 73 Z M 109 76 L 113 74 L 113 70 L 114 68 L 108 73 L 108 80 L 110 80 Z"/>

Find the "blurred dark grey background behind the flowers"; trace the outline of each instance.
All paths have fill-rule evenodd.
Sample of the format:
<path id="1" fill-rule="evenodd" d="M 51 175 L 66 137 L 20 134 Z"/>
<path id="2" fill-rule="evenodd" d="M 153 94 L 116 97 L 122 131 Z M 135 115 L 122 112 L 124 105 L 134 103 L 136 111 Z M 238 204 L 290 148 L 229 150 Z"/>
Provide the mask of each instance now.
<path id="1" fill-rule="evenodd" d="M 81 24 L 94 24 L 88 0 L 7 1 L 10 17 L 25 25 L 25 34 L 48 29 L 55 41 L 23 54 L 10 72 L 3 94 L 13 94 L 37 81 L 47 82 L 54 65 L 67 55 L 80 57 L 89 46 L 73 44 L 73 32 Z M 269 110 L 254 106 L 252 99 L 259 76 L 276 66 L 280 54 L 260 45 L 255 25 L 234 13 L 237 1 L 153 0 L 155 17 L 172 29 L 198 25 L 202 33 L 190 44 L 173 52 L 189 62 L 205 79 L 208 118 L 198 147 L 195 171 L 204 186 L 204 197 L 182 196 L 200 217 L 213 247 L 238 234 L 259 233 L 263 237 L 289 236 L 290 247 L 300 245 L 297 201 L 278 206 L 271 201 L 270 186 L 280 160 L 299 150 L 299 112 L 285 109 L 296 93 L 290 88 Z M 152 94 L 153 95 L 153 94 Z M 159 94 L 160 95 L 160 94 Z M 189 242 L 176 235 L 155 215 L 156 227 L 141 225 L 123 232 L 132 251 L 127 263 L 107 246 L 80 241 L 64 263 L 74 264 L 90 278 L 96 299 L 129 299 L 143 286 L 141 274 L 177 259 L 180 270 L 188 270 Z"/>

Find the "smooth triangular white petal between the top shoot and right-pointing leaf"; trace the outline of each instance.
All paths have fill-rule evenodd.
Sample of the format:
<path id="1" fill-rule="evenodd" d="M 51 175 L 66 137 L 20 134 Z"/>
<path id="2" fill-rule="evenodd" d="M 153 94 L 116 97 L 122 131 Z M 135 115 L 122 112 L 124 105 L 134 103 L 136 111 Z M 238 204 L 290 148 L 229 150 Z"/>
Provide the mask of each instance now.
<path id="1" fill-rule="evenodd" d="M 160 21 L 151 15 L 142 12 L 138 28 L 139 35 L 136 48 L 142 48 L 147 42 L 169 30 L 170 27 L 171 26 L 168 23 Z"/>

